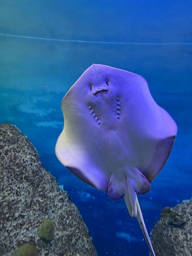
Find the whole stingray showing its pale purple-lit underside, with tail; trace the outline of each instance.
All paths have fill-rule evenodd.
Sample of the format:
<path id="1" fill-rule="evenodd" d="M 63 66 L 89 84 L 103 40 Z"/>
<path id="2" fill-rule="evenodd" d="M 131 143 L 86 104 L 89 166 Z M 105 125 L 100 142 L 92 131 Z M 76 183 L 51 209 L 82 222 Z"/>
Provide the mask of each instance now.
<path id="1" fill-rule="evenodd" d="M 124 198 L 154 256 L 137 194 L 151 189 L 169 158 L 174 120 L 154 101 L 143 77 L 101 64 L 92 64 L 68 90 L 62 112 L 58 159 L 110 199 Z"/>

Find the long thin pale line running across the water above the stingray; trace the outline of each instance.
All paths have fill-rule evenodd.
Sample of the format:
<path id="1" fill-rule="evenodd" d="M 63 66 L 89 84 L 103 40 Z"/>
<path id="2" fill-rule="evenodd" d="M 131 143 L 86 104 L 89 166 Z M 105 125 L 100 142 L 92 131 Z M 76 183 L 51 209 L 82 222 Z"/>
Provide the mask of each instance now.
<path id="1" fill-rule="evenodd" d="M 192 45 L 192 43 L 137 43 L 137 42 L 107 42 L 107 41 L 86 41 L 86 40 L 71 40 L 71 39 L 57 39 L 57 38 L 46 38 L 36 36 L 19 36 L 13 34 L 3 34 L 0 36 L 11 36 L 18 38 L 29 38 L 47 41 L 59 41 L 59 42 L 74 42 L 74 43 L 98 43 L 98 44 L 113 44 L 113 45 Z"/>

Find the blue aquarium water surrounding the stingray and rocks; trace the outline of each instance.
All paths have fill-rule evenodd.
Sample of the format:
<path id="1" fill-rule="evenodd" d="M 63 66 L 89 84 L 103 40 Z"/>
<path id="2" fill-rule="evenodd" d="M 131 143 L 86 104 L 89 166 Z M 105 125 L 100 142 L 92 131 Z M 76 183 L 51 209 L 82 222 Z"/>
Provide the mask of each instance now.
<path id="1" fill-rule="evenodd" d="M 0 123 L 16 125 L 77 205 L 98 256 L 148 255 L 124 200 L 83 183 L 55 156 L 60 103 L 93 63 L 142 75 L 178 126 L 171 156 L 139 196 L 147 230 L 192 196 L 192 1 L 0 0 Z"/>

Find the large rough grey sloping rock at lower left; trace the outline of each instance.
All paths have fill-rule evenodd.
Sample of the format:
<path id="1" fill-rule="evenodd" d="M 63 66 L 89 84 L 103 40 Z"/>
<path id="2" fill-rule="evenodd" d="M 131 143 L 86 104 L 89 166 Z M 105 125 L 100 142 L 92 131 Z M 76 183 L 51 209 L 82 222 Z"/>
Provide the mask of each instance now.
<path id="1" fill-rule="evenodd" d="M 38 237 L 44 219 L 55 224 L 53 241 Z M 95 256 L 77 207 L 42 166 L 32 143 L 12 125 L 0 125 L 0 255 L 30 243 L 41 256 Z"/>

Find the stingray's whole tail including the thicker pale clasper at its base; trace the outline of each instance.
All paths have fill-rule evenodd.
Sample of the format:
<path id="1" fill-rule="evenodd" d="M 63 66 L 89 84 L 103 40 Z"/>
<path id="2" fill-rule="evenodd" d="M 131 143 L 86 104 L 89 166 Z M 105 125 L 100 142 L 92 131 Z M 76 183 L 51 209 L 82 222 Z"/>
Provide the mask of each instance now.
<path id="1" fill-rule="evenodd" d="M 151 244 L 149 235 L 147 233 L 147 228 L 145 226 L 145 222 L 143 220 L 143 215 L 141 212 L 141 208 L 139 205 L 139 201 L 137 199 L 137 194 L 134 191 L 134 188 L 132 186 L 129 186 L 129 181 L 127 179 L 127 189 L 124 191 L 124 200 L 128 209 L 128 212 L 130 214 L 131 217 L 136 217 L 138 222 L 139 222 L 139 226 L 141 227 L 141 230 L 143 232 L 143 235 L 145 237 L 145 240 L 147 242 L 147 245 L 149 246 L 149 250 L 151 252 L 152 256 L 156 256 L 153 246 Z"/>

